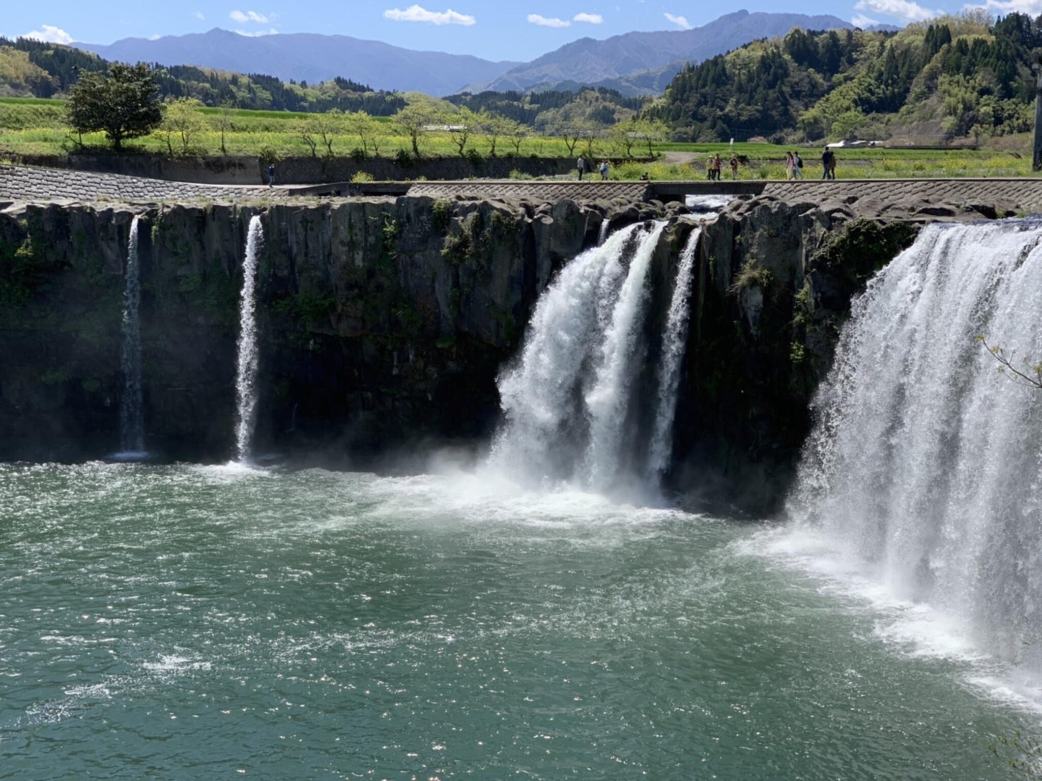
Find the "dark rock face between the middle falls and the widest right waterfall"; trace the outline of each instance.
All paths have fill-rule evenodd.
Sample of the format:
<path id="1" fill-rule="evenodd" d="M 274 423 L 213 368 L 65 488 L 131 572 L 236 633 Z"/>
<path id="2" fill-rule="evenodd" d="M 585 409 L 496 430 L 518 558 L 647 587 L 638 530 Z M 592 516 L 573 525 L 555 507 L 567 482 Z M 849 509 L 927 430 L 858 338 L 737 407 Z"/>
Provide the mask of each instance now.
<path id="1" fill-rule="evenodd" d="M 851 300 L 919 226 L 836 204 L 736 203 L 702 235 L 669 484 L 775 511 Z"/>

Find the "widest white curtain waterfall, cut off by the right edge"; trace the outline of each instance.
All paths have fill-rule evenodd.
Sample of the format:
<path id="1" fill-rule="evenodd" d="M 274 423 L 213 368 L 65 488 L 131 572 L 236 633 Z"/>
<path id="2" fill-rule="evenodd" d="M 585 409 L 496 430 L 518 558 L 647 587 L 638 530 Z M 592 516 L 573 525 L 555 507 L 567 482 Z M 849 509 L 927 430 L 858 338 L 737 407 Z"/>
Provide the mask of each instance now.
<path id="1" fill-rule="evenodd" d="M 935 225 L 853 305 L 789 512 L 987 651 L 1042 662 L 1042 223 Z"/>

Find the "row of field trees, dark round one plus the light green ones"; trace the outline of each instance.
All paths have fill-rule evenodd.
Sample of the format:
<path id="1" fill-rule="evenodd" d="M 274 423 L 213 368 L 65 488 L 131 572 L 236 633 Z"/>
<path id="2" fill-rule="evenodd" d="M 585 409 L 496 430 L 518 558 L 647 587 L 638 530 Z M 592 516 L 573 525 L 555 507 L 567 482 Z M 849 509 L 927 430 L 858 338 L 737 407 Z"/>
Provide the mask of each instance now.
<path id="1" fill-rule="evenodd" d="M 72 87 L 67 102 L 69 124 L 80 135 L 104 132 L 116 149 L 121 149 L 124 141 L 156 132 L 166 141 L 171 155 L 192 152 L 199 136 L 214 128 L 200 112 L 201 104 L 183 97 L 160 103 L 157 96 L 158 85 L 143 64 L 113 65 L 107 74 L 84 73 Z M 234 116 L 231 103 L 225 103 L 217 116 L 224 153 L 227 152 L 225 136 L 232 128 Z M 421 140 L 430 132 L 448 134 L 461 156 L 475 150 L 477 141 L 487 145 L 489 155 L 495 156 L 503 146 L 520 155 L 521 146 L 531 132 L 517 120 L 430 99 L 405 105 L 391 122 L 365 111 L 344 112 L 333 108 L 308 115 L 293 123 L 292 128 L 316 157 L 377 156 L 388 138 L 401 136 L 410 140 L 413 154 L 419 157 Z M 666 137 L 667 128 L 660 122 L 632 115 L 610 128 L 591 121 L 575 121 L 562 127 L 557 134 L 572 155 L 578 152 L 593 156 L 595 145 L 606 140 L 614 154 L 632 157 L 635 149 L 645 147 L 650 156 L 652 145 Z M 348 143 L 354 146 L 341 146 L 345 138 L 352 140 Z"/>

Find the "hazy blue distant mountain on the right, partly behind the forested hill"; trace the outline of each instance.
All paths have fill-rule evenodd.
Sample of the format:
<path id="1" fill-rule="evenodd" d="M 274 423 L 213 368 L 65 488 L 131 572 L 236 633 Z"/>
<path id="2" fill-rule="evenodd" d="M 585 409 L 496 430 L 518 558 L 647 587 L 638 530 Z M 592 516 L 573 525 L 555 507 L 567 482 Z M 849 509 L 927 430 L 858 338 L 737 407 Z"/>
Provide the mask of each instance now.
<path id="1" fill-rule="evenodd" d="M 537 85 L 560 90 L 567 82 L 610 86 L 624 95 L 655 94 L 687 62 L 700 62 L 756 39 L 784 35 L 793 27 L 832 30 L 852 29 L 853 25 L 832 16 L 738 10 L 690 30 L 627 32 L 604 41 L 579 39 L 501 76 L 474 81 L 466 90 L 525 92 Z"/>

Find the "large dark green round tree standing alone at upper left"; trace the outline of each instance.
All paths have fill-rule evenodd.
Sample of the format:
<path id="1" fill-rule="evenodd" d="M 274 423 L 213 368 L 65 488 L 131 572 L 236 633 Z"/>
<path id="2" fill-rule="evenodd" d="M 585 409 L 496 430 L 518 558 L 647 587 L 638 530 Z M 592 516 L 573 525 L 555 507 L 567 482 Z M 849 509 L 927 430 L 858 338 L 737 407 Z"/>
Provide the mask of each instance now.
<path id="1" fill-rule="evenodd" d="M 102 131 L 115 149 L 148 135 L 163 122 L 159 87 L 148 66 L 114 62 L 108 73 L 84 73 L 66 101 L 67 121 L 79 133 Z"/>

